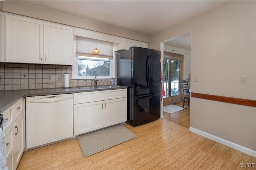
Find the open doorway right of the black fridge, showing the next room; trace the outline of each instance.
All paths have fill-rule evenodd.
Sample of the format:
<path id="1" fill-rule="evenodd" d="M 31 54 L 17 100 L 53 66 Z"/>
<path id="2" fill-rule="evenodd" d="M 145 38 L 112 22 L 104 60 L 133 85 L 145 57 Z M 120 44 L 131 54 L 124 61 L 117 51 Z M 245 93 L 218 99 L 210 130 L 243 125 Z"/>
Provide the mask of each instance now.
<path id="1" fill-rule="evenodd" d="M 186 107 L 186 109 L 183 109 L 181 111 L 174 112 L 172 114 L 163 111 L 163 106 L 173 104 L 176 106 L 182 106 L 183 103 L 183 96 L 181 96 L 180 100 L 179 98 L 176 98 L 176 95 L 178 92 L 182 93 L 182 88 L 179 85 L 179 88 L 177 88 L 174 84 L 177 82 L 177 76 L 172 76 L 171 71 L 175 70 L 176 72 L 179 72 L 179 79 L 178 82 L 180 84 L 181 79 L 188 79 L 190 78 L 190 55 L 191 55 L 191 34 L 188 33 L 186 35 L 181 35 L 179 37 L 166 39 L 164 42 L 160 43 L 160 49 L 161 49 L 161 66 L 162 66 L 162 72 L 164 74 L 164 70 L 166 70 L 166 78 L 164 78 L 164 89 L 165 95 L 162 99 L 162 106 L 161 106 L 161 117 L 164 119 L 171 121 L 173 123 L 176 123 L 178 125 L 184 126 L 189 128 L 190 127 L 190 107 Z M 166 52 L 169 52 L 171 54 L 180 54 L 182 55 L 182 58 L 169 58 L 166 57 Z M 182 60 L 183 59 L 183 60 Z M 172 61 L 174 60 L 174 61 Z M 174 65 L 174 68 L 172 67 L 172 63 L 176 64 Z M 180 67 L 178 67 L 178 65 Z M 169 72 L 168 72 L 169 71 Z M 177 75 L 177 74 L 176 74 Z M 173 77 L 173 78 L 171 78 Z M 166 80 L 167 79 L 167 80 Z M 176 79 L 176 80 L 175 80 Z M 173 85 L 172 85 L 173 81 Z M 166 83 L 167 82 L 167 83 Z"/>

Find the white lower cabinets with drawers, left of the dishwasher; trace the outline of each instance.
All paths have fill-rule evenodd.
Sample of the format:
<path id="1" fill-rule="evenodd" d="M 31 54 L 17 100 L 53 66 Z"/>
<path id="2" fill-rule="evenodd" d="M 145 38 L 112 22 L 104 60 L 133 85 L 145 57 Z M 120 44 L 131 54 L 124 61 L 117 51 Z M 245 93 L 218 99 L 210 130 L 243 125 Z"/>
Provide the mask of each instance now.
<path id="1" fill-rule="evenodd" d="M 17 168 L 25 149 L 23 108 L 24 99 L 22 98 L 3 112 L 5 122 L 3 129 L 6 137 L 6 164 L 9 170 L 15 170 Z"/>

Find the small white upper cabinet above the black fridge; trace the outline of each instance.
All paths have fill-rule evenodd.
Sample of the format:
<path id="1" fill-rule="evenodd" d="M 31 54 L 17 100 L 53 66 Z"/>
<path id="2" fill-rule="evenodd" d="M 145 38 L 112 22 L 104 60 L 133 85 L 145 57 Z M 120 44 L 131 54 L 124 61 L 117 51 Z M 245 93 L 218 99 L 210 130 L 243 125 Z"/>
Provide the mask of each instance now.
<path id="1" fill-rule="evenodd" d="M 148 48 L 148 43 L 135 41 L 133 39 L 121 38 L 121 43 L 116 43 L 116 51 L 128 50 L 130 47 Z"/>

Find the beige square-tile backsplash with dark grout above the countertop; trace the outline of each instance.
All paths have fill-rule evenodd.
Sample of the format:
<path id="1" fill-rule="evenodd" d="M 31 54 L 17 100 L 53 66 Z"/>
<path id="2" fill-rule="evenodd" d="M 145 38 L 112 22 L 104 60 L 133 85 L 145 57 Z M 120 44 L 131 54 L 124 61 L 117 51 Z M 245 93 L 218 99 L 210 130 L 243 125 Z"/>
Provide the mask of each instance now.
<path id="1" fill-rule="evenodd" d="M 70 87 L 94 86 L 94 79 L 72 80 L 72 66 L 1 63 L 0 69 L 1 90 L 62 88 L 66 72 Z M 58 80 L 51 81 L 52 75 Z M 110 79 L 99 79 L 98 85 L 110 85 Z"/>

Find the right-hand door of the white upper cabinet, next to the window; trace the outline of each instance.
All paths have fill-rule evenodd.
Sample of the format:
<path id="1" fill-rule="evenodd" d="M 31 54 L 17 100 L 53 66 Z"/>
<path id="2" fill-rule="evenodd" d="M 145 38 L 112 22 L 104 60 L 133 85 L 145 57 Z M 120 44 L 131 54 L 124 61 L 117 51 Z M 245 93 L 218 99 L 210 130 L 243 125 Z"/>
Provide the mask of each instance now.
<path id="1" fill-rule="evenodd" d="M 73 28 L 44 23 L 44 63 L 73 64 Z"/>

